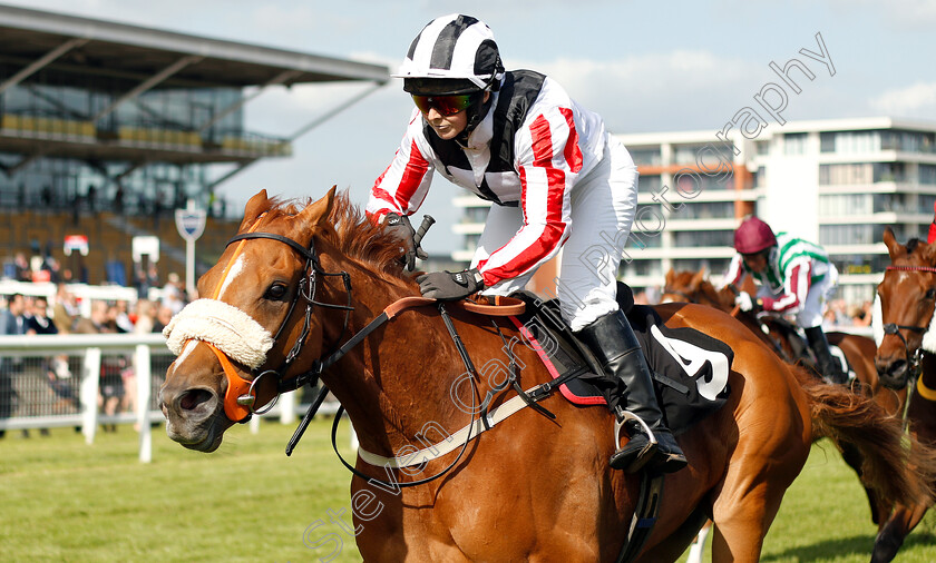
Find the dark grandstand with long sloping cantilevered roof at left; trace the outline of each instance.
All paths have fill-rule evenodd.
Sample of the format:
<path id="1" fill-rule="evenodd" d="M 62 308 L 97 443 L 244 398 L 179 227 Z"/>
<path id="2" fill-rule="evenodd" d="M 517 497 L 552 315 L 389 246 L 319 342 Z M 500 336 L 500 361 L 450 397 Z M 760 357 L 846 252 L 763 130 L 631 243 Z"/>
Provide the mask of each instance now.
<path id="1" fill-rule="evenodd" d="M 156 235 L 165 279 L 185 267 L 174 209 L 194 200 L 209 214 L 196 256 L 213 263 L 238 211 L 217 188 L 388 80 L 377 65 L 0 6 L 0 258 L 49 249 L 101 284 L 121 269 L 108 263 L 130 279 L 133 237 Z M 264 90 L 338 81 L 362 89 L 296 134 L 245 129 Z M 68 235 L 87 257 L 65 256 Z"/>

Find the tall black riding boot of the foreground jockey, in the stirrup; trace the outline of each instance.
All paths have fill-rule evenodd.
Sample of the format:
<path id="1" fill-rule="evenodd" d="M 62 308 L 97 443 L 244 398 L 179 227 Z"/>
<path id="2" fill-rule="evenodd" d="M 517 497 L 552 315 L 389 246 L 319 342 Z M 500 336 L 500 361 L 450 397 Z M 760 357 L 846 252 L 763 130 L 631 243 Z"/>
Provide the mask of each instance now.
<path id="1" fill-rule="evenodd" d="M 643 432 L 632 432 L 631 441 L 611 456 L 611 466 L 626 473 L 635 473 L 644 465 L 661 473 L 683 468 L 686 465 L 685 455 L 663 423 L 650 368 L 627 317 L 616 310 L 575 335 L 588 346 L 602 363 L 604 375 L 617 386 L 618 393 L 612 393 L 608 401 L 612 413 L 618 419 L 621 411 L 634 413 L 650 426 L 656 437 L 654 445 Z"/>

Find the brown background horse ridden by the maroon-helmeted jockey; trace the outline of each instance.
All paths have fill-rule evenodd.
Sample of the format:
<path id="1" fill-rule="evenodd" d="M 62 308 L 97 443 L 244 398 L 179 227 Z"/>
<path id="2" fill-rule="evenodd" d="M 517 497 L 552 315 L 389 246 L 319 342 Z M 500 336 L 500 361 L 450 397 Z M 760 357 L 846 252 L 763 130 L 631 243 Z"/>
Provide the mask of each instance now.
<path id="1" fill-rule="evenodd" d="M 742 312 L 734 305 L 734 297 L 739 290 L 745 290 L 751 295 L 755 293 L 757 289 L 752 283 L 741 289 L 730 285 L 716 289 L 706 278 L 705 274 L 704 268 L 699 271 L 674 271 L 671 269 L 666 273 L 666 285 L 661 295 L 661 299 L 664 303 L 679 300 L 699 303 L 731 313 L 732 316 L 737 317 L 758 335 L 759 338 L 771 346 L 782 359 L 791 363 L 806 362 L 806 356 L 803 355 L 806 345 L 789 323 L 782 322 L 773 315 L 757 315 L 753 312 Z M 751 282 L 750 276 L 745 276 L 745 282 Z M 829 339 L 829 344 L 836 345 L 842 350 L 851 368 L 855 371 L 855 378 L 860 384 L 860 386 L 855 386 L 855 389 L 865 396 L 874 397 L 874 401 L 888 414 L 899 416 L 903 413 L 906 393 L 895 393 L 881 386 L 874 363 L 875 340 L 867 336 L 838 332 L 826 333 L 826 336 Z M 811 363 L 809 365 L 818 376 L 818 369 Z M 860 477 L 862 465 L 860 454 L 848 445 L 841 450 L 841 454 L 845 462 Z M 890 514 L 893 505 L 879 498 L 872 488 L 866 486 L 865 491 L 871 507 L 871 521 L 878 524 L 880 529 L 884 526 L 887 515 Z"/>

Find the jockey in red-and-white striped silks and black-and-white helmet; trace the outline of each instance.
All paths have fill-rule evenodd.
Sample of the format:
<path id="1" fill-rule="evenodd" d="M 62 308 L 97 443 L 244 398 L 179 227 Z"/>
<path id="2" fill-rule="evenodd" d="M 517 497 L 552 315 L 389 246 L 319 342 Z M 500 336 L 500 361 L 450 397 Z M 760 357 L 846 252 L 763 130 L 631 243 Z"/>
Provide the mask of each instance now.
<path id="1" fill-rule="evenodd" d="M 615 298 L 637 203 L 637 169 L 627 150 L 553 79 L 505 71 L 490 28 L 469 16 L 429 22 L 394 76 L 416 109 L 367 211 L 397 230 L 407 267 L 426 257 L 413 244 L 408 216 L 426 198 L 433 172 L 494 204 L 470 267 L 417 277 L 422 295 L 509 295 L 564 248 L 557 280 L 563 319 L 602 362 L 612 412 L 636 414 L 657 441 L 632 433 L 612 467 L 683 467 L 685 456 L 666 428 L 646 360 Z"/>

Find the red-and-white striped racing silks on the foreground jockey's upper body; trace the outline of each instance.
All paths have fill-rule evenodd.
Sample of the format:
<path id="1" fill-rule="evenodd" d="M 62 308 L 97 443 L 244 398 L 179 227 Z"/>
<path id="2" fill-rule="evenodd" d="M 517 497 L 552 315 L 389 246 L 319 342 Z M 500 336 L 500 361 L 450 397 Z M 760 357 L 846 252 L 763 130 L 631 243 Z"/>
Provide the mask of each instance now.
<path id="1" fill-rule="evenodd" d="M 571 233 L 572 189 L 601 160 L 606 140 L 601 117 L 578 107 L 548 78 L 514 138 L 504 139 L 514 147 L 511 171 L 487 170 L 490 121 L 488 112 L 469 137 L 464 152 L 472 169 L 462 170 L 442 162 L 432 150 L 421 115 L 416 111 L 396 158 L 374 184 L 367 208 L 378 218 L 389 211 L 415 213 L 433 171 L 479 195 L 484 181 L 485 189 L 501 203 L 519 204 L 524 219 L 520 229 L 478 264 L 488 287 L 529 273 L 558 253 Z"/>

